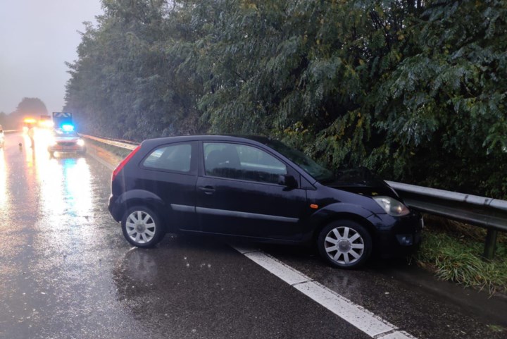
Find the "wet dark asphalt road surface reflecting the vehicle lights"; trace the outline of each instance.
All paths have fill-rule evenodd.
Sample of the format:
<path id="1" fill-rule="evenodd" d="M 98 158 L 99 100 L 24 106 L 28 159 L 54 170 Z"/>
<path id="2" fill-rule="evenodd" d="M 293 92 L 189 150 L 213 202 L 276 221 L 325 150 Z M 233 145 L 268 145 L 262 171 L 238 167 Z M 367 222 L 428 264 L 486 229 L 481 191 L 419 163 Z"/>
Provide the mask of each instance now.
<path id="1" fill-rule="evenodd" d="M 370 338 L 221 240 L 130 247 L 107 210 L 111 170 L 25 138 L 0 149 L 0 338 Z M 482 304 L 442 297 L 488 306 L 476 292 L 432 292 L 400 261 L 342 271 L 312 249 L 261 249 L 416 338 L 507 338 Z"/>

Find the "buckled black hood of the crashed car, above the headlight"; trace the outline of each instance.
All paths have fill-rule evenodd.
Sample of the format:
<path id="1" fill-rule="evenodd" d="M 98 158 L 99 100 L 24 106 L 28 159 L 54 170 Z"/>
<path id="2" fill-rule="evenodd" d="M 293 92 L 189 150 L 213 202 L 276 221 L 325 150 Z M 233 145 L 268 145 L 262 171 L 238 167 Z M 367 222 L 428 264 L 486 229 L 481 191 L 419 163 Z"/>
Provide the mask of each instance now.
<path id="1" fill-rule="evenodd" d="M 400 199 L 392 187 L 364 167 L 339 170 L 332 180 L 326 181 L 323 185 L 368 197 L 387 195 Z"/>

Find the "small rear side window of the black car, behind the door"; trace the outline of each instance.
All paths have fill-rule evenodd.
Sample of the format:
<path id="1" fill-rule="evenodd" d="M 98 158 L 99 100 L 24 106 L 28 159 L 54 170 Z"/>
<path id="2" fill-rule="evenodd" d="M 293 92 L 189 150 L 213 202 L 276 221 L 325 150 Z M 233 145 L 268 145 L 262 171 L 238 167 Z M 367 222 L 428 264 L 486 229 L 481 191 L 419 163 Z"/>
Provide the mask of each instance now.
<path id="1" fill-rule="evenodd" d="M 171 144 L 155 149 L 144 159 L 142 165 L 146 168 L 188 173 L 191 159 L 191 144 Z"/>

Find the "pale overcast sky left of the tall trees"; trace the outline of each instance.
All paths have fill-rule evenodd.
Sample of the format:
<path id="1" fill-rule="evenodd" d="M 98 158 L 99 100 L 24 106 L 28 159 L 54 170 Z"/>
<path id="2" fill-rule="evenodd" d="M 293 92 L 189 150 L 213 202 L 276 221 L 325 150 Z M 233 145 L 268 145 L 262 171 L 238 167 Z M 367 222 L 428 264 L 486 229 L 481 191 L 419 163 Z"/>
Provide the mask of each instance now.
<path id="1" fill-rule="evenodd" d="M 23 97 L 61 111 L 77 31 L 101 13 L 100 0 L 0 0 L 0 112 L 11 113 Z"/>

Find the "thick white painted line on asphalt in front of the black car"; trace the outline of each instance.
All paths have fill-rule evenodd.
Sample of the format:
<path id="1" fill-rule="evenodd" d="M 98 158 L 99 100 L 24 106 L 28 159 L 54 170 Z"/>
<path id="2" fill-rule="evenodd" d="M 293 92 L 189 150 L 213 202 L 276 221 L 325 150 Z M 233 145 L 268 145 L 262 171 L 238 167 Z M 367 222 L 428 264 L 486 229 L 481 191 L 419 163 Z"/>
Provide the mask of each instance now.
<path id="1" fill-rule="evenodd" d="M 259 266 L 270 271 L 282 281 L 288 283 L 299 292 L 318 302 L 323 307 L 344 319 L 351 325 L 360 329 L 364 333 L 375 339 L 416 339 L 405 331 L 399 331 L 399 328 L 392 323 L 381 319 L 368 309 L 364 309 L 358 304 L 354 304 L 337 292 L 326 288 L 320 283 L 313 281 L 303 273 L 284 264 L 282 261 L 265 254 L 259 249 L 249 249 L 248 247 L 232 246 L 245 257 L 251 259 Z"/>

